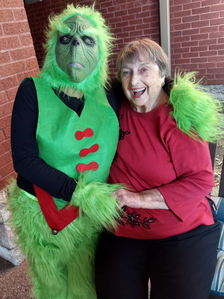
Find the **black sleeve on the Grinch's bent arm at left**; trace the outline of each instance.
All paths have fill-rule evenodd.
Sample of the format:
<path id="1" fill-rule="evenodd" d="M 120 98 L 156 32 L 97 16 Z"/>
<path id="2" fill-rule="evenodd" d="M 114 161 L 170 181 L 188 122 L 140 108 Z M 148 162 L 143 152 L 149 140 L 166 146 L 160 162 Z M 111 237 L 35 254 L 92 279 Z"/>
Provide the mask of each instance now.
<path id="1" fill-rule="evenodd" d="M 76 182 L 48 165 L 36 143 L 38 101 L 34 82 L 26 79 L 18 88 L 11 119 L 11 150 L 15 171 L 51 196 L 70 201 Z"/>

